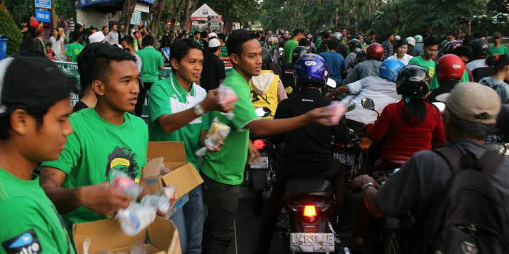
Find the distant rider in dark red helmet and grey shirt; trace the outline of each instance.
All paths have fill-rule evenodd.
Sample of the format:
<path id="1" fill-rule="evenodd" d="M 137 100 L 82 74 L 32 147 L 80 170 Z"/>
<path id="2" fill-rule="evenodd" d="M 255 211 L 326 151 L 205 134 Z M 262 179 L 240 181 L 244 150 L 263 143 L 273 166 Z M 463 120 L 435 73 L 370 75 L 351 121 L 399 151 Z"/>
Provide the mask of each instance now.
<path id="1" fill-rule="evenodd" d="M 366 49 L 367 60 L 357 65 L 346 75 L 343 84 L 350 84 L 368 76 L 378 77 L 378 70 L 382 64 L 383 47 L 378 43 L 369 45 Z"/>

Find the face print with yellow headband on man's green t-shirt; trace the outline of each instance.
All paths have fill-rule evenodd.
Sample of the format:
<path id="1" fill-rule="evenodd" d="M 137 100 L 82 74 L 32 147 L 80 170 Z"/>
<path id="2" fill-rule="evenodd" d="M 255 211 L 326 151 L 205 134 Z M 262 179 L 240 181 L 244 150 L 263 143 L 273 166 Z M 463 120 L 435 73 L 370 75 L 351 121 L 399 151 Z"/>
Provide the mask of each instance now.
<path id="1" fill-rule="evenodd" d="M 131 179 L 138 177 L 138 164 L 136 163 L 136 154 L 129 147 L 116 146 L 108 155 L 108 165 L 106 165 L 106 181 L 110 181 L 112 169 L 117 169 L 127 174 Z"/>

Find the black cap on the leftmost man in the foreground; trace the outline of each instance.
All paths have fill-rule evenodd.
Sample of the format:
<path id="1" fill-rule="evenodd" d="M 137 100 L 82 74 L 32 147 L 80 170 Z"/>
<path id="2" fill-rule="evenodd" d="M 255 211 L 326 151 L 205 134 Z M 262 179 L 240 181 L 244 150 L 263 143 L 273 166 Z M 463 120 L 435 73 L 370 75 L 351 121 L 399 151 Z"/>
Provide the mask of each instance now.
<path id="1" fill-rule="evenodd" d="M 15 109 L 46 112 L 69 97 L 75 85 L 76 79 L 48 58 L 6 58 L 0 61 L 0 117 Z"/>

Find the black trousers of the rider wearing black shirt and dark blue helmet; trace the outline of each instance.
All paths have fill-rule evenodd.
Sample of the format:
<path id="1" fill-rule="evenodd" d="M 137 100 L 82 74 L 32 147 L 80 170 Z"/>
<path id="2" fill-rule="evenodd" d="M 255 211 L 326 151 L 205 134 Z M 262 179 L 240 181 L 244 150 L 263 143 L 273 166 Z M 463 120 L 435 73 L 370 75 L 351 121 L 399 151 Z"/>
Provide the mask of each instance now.
<path id="1" fill-rule="evenodd" d="M 279 218 L 284 206 L 283 197 L 285 195 L 286 183 L 293 178 L 284 170 L 278 171 L 276 176 L 276 182 L 270 193 L 270 199 L 265 207 L 260 223 L 257 248 L 254 252 L 256 254 L 269 253 L 272 233 L 274 232 L 277 218 Z M 335 160 L 331 160 L 331 168 L 326 174 L 322 175 L 322 177 L 324 179 L 329 179 L 333 185 L 334 194 L 336 196 L 337 215 L 342 219 L 345 191 L 344 167 L 340 163 L 335 162 Z"/>

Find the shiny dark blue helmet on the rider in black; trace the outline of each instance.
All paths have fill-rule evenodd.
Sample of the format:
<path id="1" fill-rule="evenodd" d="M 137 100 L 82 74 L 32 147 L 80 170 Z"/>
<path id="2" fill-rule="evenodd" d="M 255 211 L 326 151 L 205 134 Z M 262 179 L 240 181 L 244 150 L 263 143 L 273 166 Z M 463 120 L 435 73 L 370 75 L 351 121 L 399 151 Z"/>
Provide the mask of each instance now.
<path id="1" fill-rule="evenodd" d="M 327 63 L 315 54 L 305 54 L 297 60 L 293 67 L 296 86 L 318 85 L 325 87 L 329 72 Z"/>

